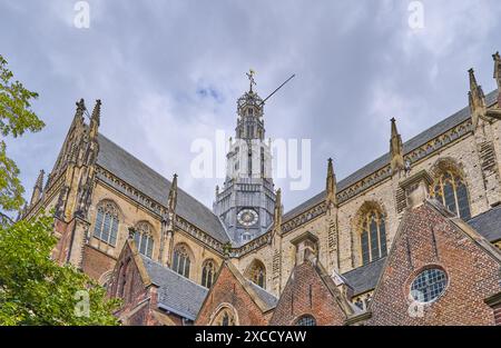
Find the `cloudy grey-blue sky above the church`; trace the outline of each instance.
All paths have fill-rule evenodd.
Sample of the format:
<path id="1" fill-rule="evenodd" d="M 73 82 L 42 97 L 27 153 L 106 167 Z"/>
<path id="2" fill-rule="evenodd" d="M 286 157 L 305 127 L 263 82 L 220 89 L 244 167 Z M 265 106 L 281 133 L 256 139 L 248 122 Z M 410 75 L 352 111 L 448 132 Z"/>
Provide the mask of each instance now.
<path id="1" fill-rule="evenodd" d="M 296 73 L 265 108 L 267 137 L 312 139 L 310 188 L 276 181 L 288 210 L 323 189 L 328 157 L 342 179 L 386 152 L 390 118 L 406 140 L 466 106 L 469 68 L 495 87 L 499 0 L 421 1 L 423 28 L 406 0 L 88 0 L 88 29 L 76 2 L 0 0 L 0 54 L 47 123 L 8 142 L 28 195 L 80 98 L 102 100 L 104 135 L 212 206 L 222 180 L 190 175 L 191 142 L 232 136 L 249 68 L 262 97 Z"/>

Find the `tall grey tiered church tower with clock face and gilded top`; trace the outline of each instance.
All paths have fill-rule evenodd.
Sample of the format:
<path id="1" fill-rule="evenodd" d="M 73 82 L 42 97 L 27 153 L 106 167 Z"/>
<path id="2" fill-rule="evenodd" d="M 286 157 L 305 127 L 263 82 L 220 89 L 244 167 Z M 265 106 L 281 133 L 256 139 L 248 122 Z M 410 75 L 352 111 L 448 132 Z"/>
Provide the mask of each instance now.
<path id="1" fill-rule="evenodd" d="M 247 77 L 248 92 L 237 100 L 235 140 L 229 138 L 226 179 L 216 188 L 214 212 L 222 219 L 235 245 L 243 245 L 273 223 L 275 192 L 272 179 L 271 141 L 265 141 L 264 102 L 253 91 L 254 71 Z"/>

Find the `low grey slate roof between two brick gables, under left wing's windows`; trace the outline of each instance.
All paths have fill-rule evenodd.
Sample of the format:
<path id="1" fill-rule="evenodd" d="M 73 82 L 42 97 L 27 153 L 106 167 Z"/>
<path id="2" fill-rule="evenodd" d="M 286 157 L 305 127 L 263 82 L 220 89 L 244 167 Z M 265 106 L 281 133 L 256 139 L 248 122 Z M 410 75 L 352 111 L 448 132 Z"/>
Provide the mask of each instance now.
<path id="1" fill-rule="evenodd" d="M 151 281 L 158 286 L 158 305 L 181 317 L 195 320 L 208 289 L 141 256 Z"/>

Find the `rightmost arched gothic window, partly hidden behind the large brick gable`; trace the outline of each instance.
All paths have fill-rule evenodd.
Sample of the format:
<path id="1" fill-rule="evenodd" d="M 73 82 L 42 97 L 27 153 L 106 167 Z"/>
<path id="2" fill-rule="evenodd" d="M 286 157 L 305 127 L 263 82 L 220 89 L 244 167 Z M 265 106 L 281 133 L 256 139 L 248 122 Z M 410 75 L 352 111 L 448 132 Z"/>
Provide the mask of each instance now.
<path id="1" fill-rule="evenodd" d="M 441 171 L 430 188 L 430 196 L 436 198 L 450 211 L 463 220 L 470 220 L 470 202 L 464 180 L 454 170 Z"/>

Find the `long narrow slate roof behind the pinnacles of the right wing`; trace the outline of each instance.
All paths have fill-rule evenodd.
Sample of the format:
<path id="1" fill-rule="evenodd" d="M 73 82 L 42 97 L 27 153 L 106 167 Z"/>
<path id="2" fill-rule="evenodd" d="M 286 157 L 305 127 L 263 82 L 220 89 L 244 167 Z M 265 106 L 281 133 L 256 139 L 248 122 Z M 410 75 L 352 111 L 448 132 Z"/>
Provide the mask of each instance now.
<path id="1" fill-rule="evenodd" d="M 485 103 L 488 106 L 491 106 L 495 102 L 498 102 L 498 90 L 494 90 L 494 91 L 490 92 L 488 96 L 485 96 Z M 449 129 L 454 128 L 455 126 L 464 122 L 469 118 L 470 118 L 470 107 L 465 107 L 465 108 L 461 109 L 460 111 L 455 112 L 454 115 L 448 117 L 446 119 L 440 121 L 435 126 L 432 126 L 431 128 L 422 131 L 414 138 L 405 141 L 403 143 L 404 155 L 413 151 L 414 149 L 419 148 L 420 146 L 436 138 L 438 136 L 442 135 L 443 132 L 448 131 Z M 356 170 L 355 172 L 347 176 L 343 180 L 338 181 L 337 182 L 337 191 L 342 191 L 342 190 L 348 188 L 350 186 L 356 183 L 357 181 L 370 176 L 374 171 L 380 170 L 381 168 L 383 168 L 384 166 L 386 166 L 389 163 L 390 163 L 390 152 L 379 157 L 374 161 L 370 162 L 369 165 Z M 286 212 L 284 215 L 284 221 L 316 206 L 317 203 L 322 202 L 322 200 L 324 198 L 325 198 L 325 191 L 320 192 L 318 195 L 314 196 L 313 198 L 308 199 L 307 201 L 301 203 L 299 206 L 297 206 L 297 207 L 293 208 L 292 210 L 289 210 L 288 212 Z"/>

